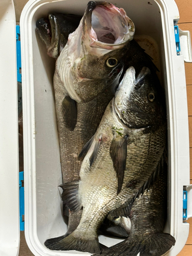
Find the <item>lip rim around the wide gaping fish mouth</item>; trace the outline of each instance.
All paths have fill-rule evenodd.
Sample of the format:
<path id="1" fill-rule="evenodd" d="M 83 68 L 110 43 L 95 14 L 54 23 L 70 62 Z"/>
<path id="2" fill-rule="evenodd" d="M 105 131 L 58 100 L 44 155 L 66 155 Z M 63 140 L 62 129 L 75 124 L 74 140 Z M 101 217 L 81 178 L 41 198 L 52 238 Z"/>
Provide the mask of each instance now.
<path id="1" fill-rule="evenodd" d="M 86 35 L 86 32 L 88 33 L 88 35 L 91 39 L 90 47 L 93 47 L 93 48 L 101 48 L 101 49 L 108 49 L 108 50 L 113 50 L 114 48 L 122 48 L 122 46 L 125 45 L 127 41 L 131 41 L 133 39 L 133 36 L 135 33 L 134 23 L 132 22 L 132 20 L 129 17 L 126 16 L 126 13 L 124 12 L 126 19 L 129 20 L 129 23 L 131 23 L 133 25 L 133 26 L 131 26 L 131 29 L 133 29 L 133 30 L 131 30 L 131 31 L 129 30 L 130 36 L 127 36 L 126 40 L 117 42 L 116 44 L 108 44 L 108 43 L 105 43 L 102 41 L 98 41 L 97 38 L 96 39 L 93 38 L 93 36 L 91 34 L 91 30 L 93 29 L 92 28 L 92 13 L 95 10 L 95 8 L 98 6 L 103 7 L 105 9 L 111 6 L 114 9 L 118 9 L 119 11 L 120 11 L 120 9 L 122 9 L 122 8 L 119 9 L 116 6 L 114 6 L 113 4 L 108 3 L 108 2 L 90 1 L 87 5 L 86 11 L 84 12 L 84 15 L 83 15 L 82 36 L 84 37 Z M 87 27 L 87 31 L 86 31 L 86 27 Z M 128 33 L 126 33 L 126 34 L 128 34 Z"/>

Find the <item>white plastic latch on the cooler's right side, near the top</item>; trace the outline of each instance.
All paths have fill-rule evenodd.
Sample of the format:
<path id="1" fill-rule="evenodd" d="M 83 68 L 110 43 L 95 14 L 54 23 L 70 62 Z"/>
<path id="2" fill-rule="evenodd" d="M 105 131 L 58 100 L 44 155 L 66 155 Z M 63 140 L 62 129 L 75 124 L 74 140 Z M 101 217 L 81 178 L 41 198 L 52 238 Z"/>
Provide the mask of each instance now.
<path id="1" fill-rule="evenodd" d="M 184 61 L 192 62 L 190 32 L 183 31 L 179 28 L 179 38 L 181 45 L 181 55 L 184 56 Z"/>

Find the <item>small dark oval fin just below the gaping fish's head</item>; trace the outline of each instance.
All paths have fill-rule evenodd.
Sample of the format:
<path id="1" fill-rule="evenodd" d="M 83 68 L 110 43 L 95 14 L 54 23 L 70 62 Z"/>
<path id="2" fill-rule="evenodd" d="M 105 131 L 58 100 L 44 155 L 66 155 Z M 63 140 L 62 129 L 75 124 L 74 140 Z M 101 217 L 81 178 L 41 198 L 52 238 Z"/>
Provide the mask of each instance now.
<path id="1" fill-rule="evenodd" d="M 66 96 L 62 101 L 61 110 L 66 128 L 73 131 L 77 123 L 76 101 L 69 96 Z"/>

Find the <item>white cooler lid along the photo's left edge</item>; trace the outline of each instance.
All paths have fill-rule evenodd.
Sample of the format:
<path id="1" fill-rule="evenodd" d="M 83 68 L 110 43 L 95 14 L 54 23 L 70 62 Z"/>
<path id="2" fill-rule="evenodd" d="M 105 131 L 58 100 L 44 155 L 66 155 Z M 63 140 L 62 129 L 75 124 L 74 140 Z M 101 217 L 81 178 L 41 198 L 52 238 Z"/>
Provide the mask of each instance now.
<path id="1" fill-rule="evenodd" d="M 16 33 L 13 1 L 0 1 L 0 255 L 19 250 Z"/>

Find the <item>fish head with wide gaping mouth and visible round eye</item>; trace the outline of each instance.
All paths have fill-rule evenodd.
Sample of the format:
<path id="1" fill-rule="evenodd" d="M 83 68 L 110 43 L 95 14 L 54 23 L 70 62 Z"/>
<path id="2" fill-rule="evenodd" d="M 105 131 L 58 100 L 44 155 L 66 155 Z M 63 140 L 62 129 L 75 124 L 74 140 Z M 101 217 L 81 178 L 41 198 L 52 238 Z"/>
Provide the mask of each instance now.
<path id="1" fill-rule="evenodd" d="M 88 3 L 78 29 L 68 40 L 74 91 L 82 101 L 92 100 L 109 84 L 116 89 L 134 32 L 134 24 L 122 8 L 106 2 Z"/>

